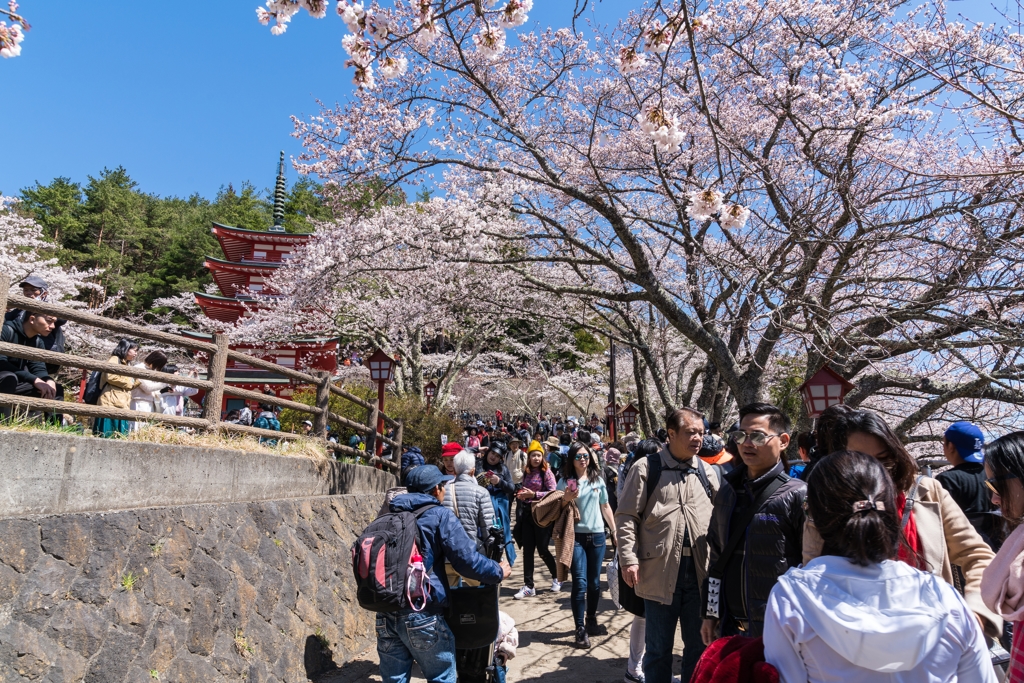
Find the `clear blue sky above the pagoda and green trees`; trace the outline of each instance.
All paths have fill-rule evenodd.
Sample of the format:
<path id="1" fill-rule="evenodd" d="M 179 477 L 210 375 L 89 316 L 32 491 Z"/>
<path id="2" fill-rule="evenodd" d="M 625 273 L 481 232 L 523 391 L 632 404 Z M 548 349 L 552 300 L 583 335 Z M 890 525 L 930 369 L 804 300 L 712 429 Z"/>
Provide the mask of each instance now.
<path id="1" fill-rule="evenodd" d="M 119 165 L 162 196 L 212 198 L 245 180 L 269 187 L 278 152 L 301 152 L 289 117 L 352 89 L 333 3 L 327 18 L 302 12 L 280 37 L 256 23 L 254 0 L 20 4 L 32 31 L 22 56 L 0 59 L 3 195 Z M 530 23 L 565 26 L 572 4 L 535 0 Z M 639 4 L 602 0 L 593 16 L 613 23 Z M 951 2 L 949 11 L 998 20 L 991 2 Z"/>

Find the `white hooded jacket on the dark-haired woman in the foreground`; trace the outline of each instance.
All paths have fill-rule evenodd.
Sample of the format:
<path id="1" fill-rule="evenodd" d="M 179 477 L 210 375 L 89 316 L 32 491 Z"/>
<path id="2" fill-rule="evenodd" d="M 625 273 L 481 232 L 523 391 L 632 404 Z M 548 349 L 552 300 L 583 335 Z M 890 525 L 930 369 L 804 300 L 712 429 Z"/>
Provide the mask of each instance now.
<path id="1" fill-rule="evenodd" d="M 977 618 L 942 579 L 833 555 L 779 578 L 765 660 L 783 683 L 995 683 Z"/>

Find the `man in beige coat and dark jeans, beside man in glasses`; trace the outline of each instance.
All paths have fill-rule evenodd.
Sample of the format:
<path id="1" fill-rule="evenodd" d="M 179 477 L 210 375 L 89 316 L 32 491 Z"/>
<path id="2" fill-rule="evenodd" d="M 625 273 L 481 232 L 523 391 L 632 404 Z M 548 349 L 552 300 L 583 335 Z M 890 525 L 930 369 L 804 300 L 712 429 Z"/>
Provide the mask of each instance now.
<path id="1" fill-rule="evenodd" d="M 679 409 L 666 426 L 668 447 L 630 468 L 615 513 L 623 578 L 644 599 L 647 613 L 647 683 L 672 683 L 677 623 L 683 631 L 680 680 L 690 680 L 703 652 L 700 586 L 708 573 L 708 525 L 719 487 L 715 470 L 697 457 L 703 416 Z"/>

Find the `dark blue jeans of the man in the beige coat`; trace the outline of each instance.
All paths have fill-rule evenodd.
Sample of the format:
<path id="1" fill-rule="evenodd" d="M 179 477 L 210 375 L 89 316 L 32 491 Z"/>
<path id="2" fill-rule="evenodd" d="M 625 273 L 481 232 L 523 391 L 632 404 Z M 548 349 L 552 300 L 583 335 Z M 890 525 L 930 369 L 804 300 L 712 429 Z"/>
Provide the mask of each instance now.
<path id="1" fill-rule="evenodd" d="M 653 600 L 644 600 L 647 612 L 647 653 L 643 657 L 643 673 L 647 683 L 672 683 L 672 644 L 676 639 L 676 623 L 683 635 L 683 671 L 680 676 L 684 683 L 693 677 L 697 659 L 705 651 L 700 639 L 700 587 L 697 585 L 697 570 L 693 558 L 683 556 L 679 563 L 679 578 L 676 592 L 672 594 L 672 604 L 663 605 Z"/>

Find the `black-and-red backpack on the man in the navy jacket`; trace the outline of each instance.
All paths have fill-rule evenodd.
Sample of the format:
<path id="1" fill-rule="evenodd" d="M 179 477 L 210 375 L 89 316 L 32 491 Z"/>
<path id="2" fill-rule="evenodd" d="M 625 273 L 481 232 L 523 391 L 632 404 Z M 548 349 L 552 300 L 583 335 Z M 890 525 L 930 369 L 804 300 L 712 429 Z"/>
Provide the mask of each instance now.
<path id="1" fill-rule="evenodd" d="M 416 512 L 383 514 L 370 522 L 352 544 L 355 598 L 360 607 L 374 612 L 416 608 L 411 603 L 410 574 L 414 558 L 421 556 L 420 549 L 426 547 L 417 520 L 434 505 L 425 505 Z M 429 591 L 429 582 L 422 590 Z M 425 605 L 426 594 L 418 597 L 423 598 Z"/>

